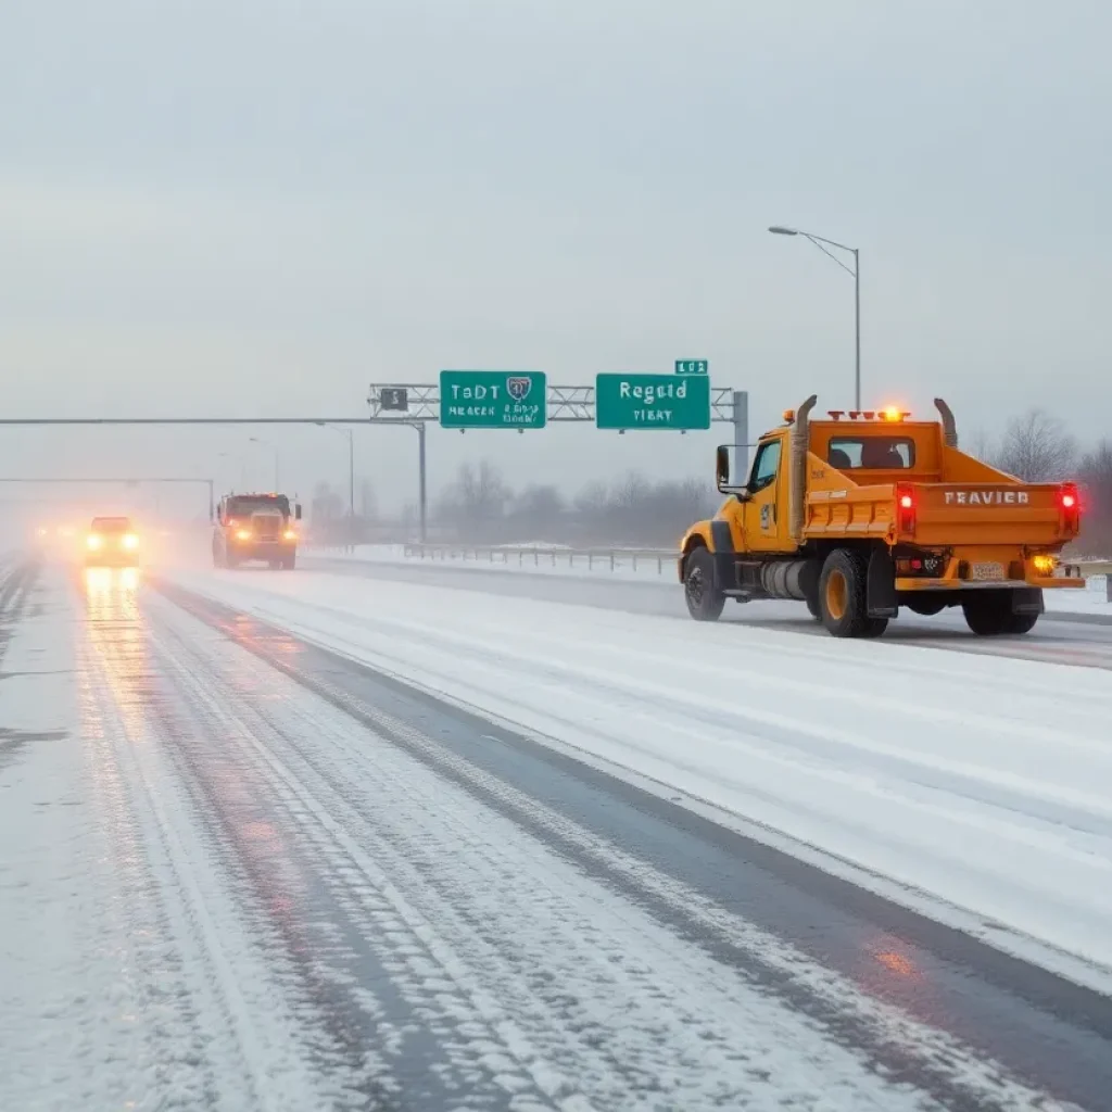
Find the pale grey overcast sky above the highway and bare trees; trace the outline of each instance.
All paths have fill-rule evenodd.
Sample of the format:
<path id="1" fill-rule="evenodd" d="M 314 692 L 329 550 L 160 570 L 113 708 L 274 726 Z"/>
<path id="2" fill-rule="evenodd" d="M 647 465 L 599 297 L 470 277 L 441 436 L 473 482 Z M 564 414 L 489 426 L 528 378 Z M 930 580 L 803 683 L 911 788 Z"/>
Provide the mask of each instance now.
<path id="1" fill-rule="evenodd" d="M 754 433 L 865 400 L 1112 433 L 1106 0 L 0 0 L 11 416 L 366 411 L 444 367 L 707 358 Z M 0 431 L 4 474 L 344 481 L 325 430 Z M 430 483 L 711 473 L 725 426 L 429 434 Z M 416 437 L 360 430 L 413 496 Z M 218 453 L 227 453 L 218 457 Z"/>

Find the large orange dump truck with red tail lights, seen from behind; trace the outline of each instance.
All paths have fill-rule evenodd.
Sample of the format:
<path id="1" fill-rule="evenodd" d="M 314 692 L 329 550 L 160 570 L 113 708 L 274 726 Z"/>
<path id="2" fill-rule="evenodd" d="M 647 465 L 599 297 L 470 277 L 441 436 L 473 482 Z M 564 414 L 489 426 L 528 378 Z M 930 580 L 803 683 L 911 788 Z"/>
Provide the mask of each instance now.
<path id="1" fill-rule="evenodd" d="M 1075 484 L 1022 483 L 959 450 L 941 398 L 930 421 L 894 407 L 812 420 L 816 400 L 761 438 L 743 485 L 735 449 L 717 449 L 727 498 L 679 545 L 693 618 L 716 620 L 727 598 L 792 598 L 835 637 L 878 637 L 902 606 L 961 606 L 975 634 L 1025 634 L 1044 589 L 1084 587 L 1060 558 L 1081 527 Z"/>

